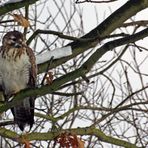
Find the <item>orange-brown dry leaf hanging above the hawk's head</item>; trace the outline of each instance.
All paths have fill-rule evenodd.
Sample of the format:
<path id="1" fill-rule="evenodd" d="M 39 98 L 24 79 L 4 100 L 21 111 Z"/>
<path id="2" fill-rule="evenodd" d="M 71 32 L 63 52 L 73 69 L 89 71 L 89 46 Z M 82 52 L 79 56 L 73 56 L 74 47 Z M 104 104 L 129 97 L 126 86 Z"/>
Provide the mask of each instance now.
<path id="1" fill-rule="evenodd" d="M 25 19 L 22 15 L 12 14 L 14 21 L 18 22 L 19 25 L 27 28 L 30 26 L 30 23 L 27 19 Z"/>

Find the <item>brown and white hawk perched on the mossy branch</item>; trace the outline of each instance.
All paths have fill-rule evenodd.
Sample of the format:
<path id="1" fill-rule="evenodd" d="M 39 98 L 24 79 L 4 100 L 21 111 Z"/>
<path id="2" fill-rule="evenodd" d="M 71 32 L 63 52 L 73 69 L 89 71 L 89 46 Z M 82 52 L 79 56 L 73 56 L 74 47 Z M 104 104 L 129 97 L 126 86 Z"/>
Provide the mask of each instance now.
<path id="1" fill-rule="evenodd" d="M 5 101 L 20 90 L 36 86 L 37 66 L 31 48 L 26 45 L 21 32 L 11 31 L 4 35 L 0 48 L 0 88 Z M 11 108 L 14 122 L 23 131 L 34 123 L 34 97 L 27 97 Z"/>

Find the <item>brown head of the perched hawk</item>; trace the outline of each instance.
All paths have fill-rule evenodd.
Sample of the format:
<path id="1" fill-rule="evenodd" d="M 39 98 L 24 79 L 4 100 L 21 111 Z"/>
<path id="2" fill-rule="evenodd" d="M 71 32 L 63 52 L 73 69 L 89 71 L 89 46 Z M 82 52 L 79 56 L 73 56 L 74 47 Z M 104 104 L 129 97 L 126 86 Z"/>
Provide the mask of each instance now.
<path id="1" fill-rule="evenodd" d="M 21 48 L 25 43 L 24 36 L 19 31 L 10 31 L 3 37 L 2 44 L 6 48 Z"/>

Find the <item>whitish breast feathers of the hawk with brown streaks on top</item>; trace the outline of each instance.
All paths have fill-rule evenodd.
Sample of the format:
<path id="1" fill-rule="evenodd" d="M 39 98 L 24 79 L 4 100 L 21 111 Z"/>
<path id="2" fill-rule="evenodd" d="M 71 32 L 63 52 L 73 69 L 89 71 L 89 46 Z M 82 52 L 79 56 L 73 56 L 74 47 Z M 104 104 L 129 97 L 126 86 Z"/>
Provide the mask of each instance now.
<path id="1" fill-rule="evenodd" d="M 11 49 L 6 56 L 0 53 L 0 85 L 6 94 L 13 94 L 27 87 L 31 63 L 26 50 Z"/>

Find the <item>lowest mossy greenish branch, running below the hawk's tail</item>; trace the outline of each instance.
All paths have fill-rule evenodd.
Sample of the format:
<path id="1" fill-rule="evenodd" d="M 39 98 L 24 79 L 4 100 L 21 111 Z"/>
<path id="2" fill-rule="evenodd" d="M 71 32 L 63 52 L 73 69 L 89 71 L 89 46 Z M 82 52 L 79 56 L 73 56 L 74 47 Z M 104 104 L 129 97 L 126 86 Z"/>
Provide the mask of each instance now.
<path id="1" fill-rule="evenodd" d="M 32 141 L 32 140 L 54 140 L 60 133 L 63 132 L 69 132 L 69 133 L 75 133 L 76 135 L 91 135 L 98 137 L 98 140 L 126 147 L 126 148 L 138 148 L 135 144 L 132 144 L 130 142 L 126 142 L 124 140 L 120 140 L 111 136 L 108 136 L 104 134 L 101 130 L 95 128 L 95 127 L 85 127 L 85 128 L 75 128 L 75 129 L 65 129 L 61 131 L 56 132 L 48 132 L 48 133 L 30 133 L 27 135 L 22 136 L 16 134 L 15 132 L 12 132 L 10 130 L 0 128 L 0 135 L 2 137 L 6 137 L 9 139 L 12 139 L 14 141 L 18 141 L 20 143 L 23 143 L 23 141 L 26 140 Z"/>

